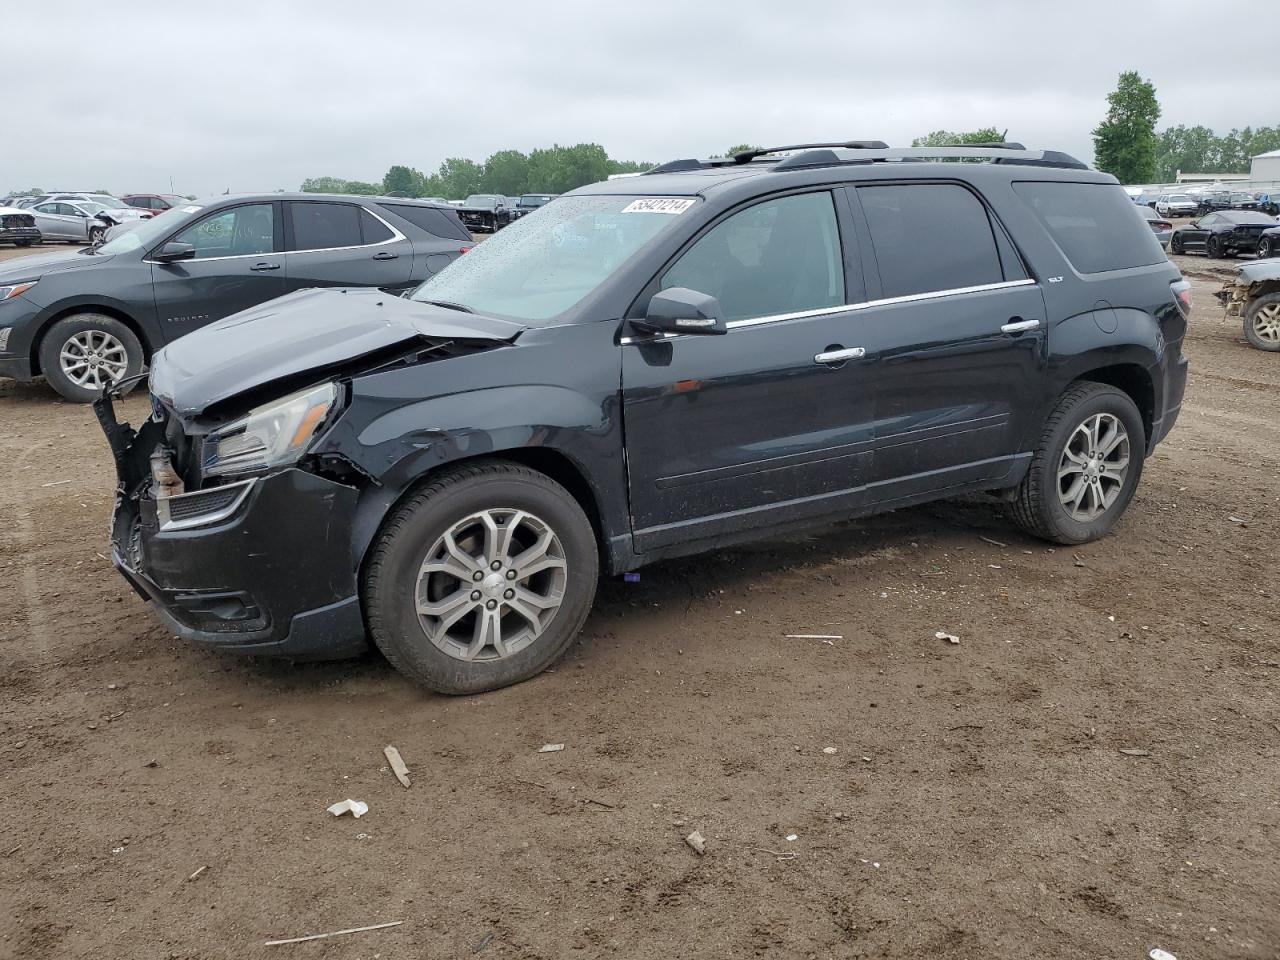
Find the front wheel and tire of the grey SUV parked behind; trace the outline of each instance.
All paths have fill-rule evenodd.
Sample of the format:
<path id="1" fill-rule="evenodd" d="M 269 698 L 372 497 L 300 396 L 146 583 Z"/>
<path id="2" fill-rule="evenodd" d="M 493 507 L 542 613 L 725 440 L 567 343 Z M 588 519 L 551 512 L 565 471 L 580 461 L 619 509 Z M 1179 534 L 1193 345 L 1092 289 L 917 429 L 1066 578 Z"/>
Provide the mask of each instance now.
<path id="1" fill-rule="evenodd" d="M 142 372 L 142 344 L 113 316 L 72 314 L 41 339 L 40 372 L 67 399 L 92 403 L 109 381 Z"/>

